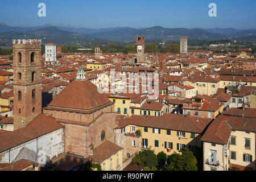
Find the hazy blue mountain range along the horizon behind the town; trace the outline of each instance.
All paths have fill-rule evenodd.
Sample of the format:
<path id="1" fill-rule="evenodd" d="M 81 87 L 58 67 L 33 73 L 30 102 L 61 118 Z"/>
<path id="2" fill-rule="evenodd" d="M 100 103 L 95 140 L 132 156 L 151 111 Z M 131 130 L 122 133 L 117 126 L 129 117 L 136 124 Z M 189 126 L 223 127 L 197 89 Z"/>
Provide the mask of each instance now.
<path id="1" fill-rule="evenodd" d="M 90 44 L 97 42 L 135 42 L 135 36 L 143 35 L 146 41 L 179 40 L 180 36 L 188 36 L 193 40 L 222 40 L 239 39 L 249 42 L 256 41 L 256 30 L 237 30 L 235 28 L 164 28 L 160 26 L 150 28 L 84 28 L 51 24 L 43 26 L 12 27 L 0 23 L 0 44 L 13 38 L 39 38 L 44 43 L 56 44 Z"/>

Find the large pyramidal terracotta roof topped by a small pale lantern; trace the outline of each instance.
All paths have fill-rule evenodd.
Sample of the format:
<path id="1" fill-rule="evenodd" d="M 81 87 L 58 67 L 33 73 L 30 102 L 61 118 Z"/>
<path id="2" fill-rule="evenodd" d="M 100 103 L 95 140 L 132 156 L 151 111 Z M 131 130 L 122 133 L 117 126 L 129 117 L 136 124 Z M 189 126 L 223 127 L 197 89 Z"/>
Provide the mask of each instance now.
<path id="1" fill-rule="evenodd" d="M 97 86 L 88 80 L 72 81 L 52 100 L 48 106 L 90 110 L 110 102 Z"/>

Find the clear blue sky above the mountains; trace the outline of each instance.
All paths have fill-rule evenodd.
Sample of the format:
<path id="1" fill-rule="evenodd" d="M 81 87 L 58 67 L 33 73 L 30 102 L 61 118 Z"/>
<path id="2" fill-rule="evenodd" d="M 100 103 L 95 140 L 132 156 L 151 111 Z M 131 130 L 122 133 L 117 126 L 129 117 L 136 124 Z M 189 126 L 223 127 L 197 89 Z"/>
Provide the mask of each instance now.
<path id="1" fill-rule="evenodd" d="M 46 17 L 38 4 L 46 4 Z M 210 17 L 216 3 L 217 17 Z M 256 28 L 255 0 L 1 0 L 0 22 L 10 26 L 65 24 L 90 28 Z"/>

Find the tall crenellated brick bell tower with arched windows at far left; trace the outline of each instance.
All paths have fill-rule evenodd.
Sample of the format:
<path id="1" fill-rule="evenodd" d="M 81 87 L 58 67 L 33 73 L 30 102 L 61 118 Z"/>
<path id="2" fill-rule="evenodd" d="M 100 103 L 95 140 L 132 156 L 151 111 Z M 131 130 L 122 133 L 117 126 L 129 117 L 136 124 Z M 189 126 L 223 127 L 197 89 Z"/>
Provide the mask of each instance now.
<path id="1" fill-rule="evenodd" d="M 14 130 L 42 113 L 41 40 L 13 40 Z"/>

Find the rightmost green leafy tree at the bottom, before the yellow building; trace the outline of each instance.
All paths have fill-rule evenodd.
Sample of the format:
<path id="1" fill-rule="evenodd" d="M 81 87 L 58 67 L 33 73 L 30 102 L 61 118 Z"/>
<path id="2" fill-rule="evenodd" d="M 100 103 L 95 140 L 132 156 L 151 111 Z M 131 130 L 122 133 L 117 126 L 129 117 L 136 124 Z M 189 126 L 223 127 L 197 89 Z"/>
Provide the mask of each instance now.
<path id="1" fill-rule="evenodd" d="M 170 155 L 170 171 L 197 171 L 197 160 L 193 152 L 188 148 L 183 148 L 182 154 Z"/>

